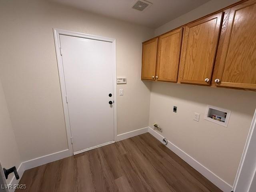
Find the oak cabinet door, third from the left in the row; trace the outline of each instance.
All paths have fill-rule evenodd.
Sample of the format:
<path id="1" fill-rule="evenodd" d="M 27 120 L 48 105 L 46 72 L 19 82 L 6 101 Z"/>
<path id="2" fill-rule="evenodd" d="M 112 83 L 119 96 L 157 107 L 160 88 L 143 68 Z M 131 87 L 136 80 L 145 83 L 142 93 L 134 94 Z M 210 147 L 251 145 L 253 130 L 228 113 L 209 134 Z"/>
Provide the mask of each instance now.
<path id="1" fill-rule="evenodd" d="M 221 20 L 222 12 L 185 26 L 180 82 L 210 84 Z"/>

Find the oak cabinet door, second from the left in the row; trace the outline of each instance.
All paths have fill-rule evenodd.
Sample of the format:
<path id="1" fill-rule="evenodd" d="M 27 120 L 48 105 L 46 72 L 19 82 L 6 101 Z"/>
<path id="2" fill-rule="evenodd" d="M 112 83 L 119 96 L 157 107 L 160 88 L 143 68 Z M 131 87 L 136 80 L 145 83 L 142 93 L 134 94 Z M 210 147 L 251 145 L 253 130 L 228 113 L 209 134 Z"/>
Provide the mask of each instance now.
<path id="1" fill-rule="evenodd" d="M 177 82 L 183 28 L 158 38 L 156 80 Z"/>

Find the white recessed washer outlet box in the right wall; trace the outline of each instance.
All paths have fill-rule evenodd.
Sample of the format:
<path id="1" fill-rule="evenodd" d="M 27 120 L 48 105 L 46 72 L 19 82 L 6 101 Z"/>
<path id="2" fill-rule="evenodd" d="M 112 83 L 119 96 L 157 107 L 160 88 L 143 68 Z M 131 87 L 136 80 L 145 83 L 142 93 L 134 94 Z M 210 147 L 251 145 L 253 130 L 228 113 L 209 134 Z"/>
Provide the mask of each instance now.
<path id="1" fill-rule="evenodd" d="M 230 110 L 207 105 L 204 119 L 227 127 L 230 113 Z"/>

